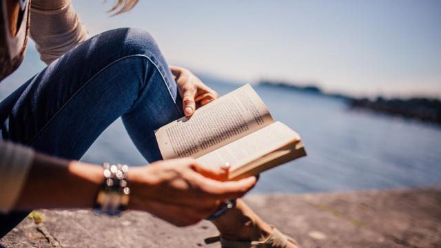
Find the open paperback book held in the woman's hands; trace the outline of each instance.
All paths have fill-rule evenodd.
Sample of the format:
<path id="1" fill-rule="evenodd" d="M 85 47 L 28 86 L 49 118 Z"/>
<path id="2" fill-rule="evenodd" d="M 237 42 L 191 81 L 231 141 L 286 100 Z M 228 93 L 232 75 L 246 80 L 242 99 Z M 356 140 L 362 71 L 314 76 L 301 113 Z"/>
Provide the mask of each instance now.
<path id="1" fill-rule="evenodd" d="M 300 136 L 274 122 L 247 84 L 156 130 L 164 159 L 192 156 L 207 167 L 229 163 L 229 180 L 306 156 Z"/>

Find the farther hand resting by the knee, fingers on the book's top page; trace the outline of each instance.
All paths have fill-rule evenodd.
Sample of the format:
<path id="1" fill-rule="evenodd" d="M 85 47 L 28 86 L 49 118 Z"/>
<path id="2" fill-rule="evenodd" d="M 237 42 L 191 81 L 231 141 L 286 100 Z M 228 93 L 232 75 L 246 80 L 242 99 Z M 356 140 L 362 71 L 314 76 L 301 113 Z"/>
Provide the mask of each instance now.
<path id="1" fill-rule="evenodd" d="M 172 70 L 179 94 L 183 99 L 185 116 L 191 116 L 196 107 L 201 107 L 214 99 L 218 99 L 219 94 L 207 87 L 189 70 L 177 66 L 170 66 L 170 70 Z"/>

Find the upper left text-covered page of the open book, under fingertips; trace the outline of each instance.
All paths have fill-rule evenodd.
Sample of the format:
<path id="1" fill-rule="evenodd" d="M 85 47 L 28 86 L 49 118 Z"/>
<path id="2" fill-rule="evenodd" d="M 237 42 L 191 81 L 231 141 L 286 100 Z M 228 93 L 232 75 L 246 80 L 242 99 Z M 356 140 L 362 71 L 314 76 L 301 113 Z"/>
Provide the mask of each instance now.
<path id="1" fill-rule="evenodd" d="M 273 123 L 262 99 L 247 84 L 156 130 L 164 159 L 198 158 Z"/>

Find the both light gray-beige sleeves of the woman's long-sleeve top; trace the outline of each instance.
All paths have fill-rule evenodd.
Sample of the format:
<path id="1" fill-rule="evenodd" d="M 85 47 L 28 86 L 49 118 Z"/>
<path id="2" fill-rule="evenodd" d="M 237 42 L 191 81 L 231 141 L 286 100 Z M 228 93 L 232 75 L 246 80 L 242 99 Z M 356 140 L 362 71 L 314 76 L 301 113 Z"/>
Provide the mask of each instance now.
<path id="1" fill-rule="evenodd" d="M 88 39 L 88 32 L 70 0 L 32 0 L 30 37 L 37 44 L 41 60 L 49 64 Z M 13 209 L 33 157 L 30 148 L 0 141 L 0 212 Z"/>

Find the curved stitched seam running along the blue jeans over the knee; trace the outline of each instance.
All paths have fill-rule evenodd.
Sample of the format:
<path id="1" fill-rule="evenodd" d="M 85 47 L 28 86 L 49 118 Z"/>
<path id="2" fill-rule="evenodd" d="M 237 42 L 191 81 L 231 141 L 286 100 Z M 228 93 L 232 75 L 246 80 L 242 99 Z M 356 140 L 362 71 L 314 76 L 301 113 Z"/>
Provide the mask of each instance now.
<path id="1" fill-rule="evenodd" d="M 72 99 L 74 99 L 74 97 L 79 94 L 79 92 L 81 92 L 81 90 L 83 90 L 83 88 L 88 85 L 90 83 L 90 81 L 92 81 L 96 76 L 98 76 L 101 72 L 103 72 L 104 70 L 106 70 L 107 68 L 109 68 L 111 65 L 114 65 L 114 63 L 117 63 L 119 61 L 122 61 L 123 59 L 128 59 L 130 57 L 136 57 L 136 56 L 141 56 L 146 58 L 148 61 L 150 61 L 156 68 L 156 70 L 158 70 L 159 74 L 161 74 L 161 77 L 163 79 L 163 83 L 165 84 L 165 87 L 167 87 L 167 90 L 170 94 L 170 98 L 172 99 L 176 109 L 178 109 L 178 105 L 176 105 L 176 101 L 173 98 L 172 92 L 170 91 L 170 88 L 167 85 L 167 82 L 165 81 L 165 77 L 163 76 L 163 73 L 161 72 L 161 70 L 159 69 L 158 65 L 156 65 L 156 63 L 154 63 L 152 61 L 152 59 L 150 59 L 149 56 L 145 55 L 145 54 L 131 54 L 131 55 L 127 55 L 127 56 L 123 56 L 119 59 L 116 59 L 114 61 L 112 61 L 111 63 L 108 63 L 107 65 L 105 65 L 105 67 L 101 68 L 101 70 L 99 70 L 99 72 L 96 72 L 93 76 L 90 77 L 90 79 L 88 79 L 88 81 L 86 81 L 83 85 L 81 85 L 81 87 L 79 87 L 78 90 L 76 90 L 76 92 L 74 94 L 72 94 L 72 96 L 70 96 L 70 98 L 68 99 L 68 101 L 66 101 L 60 108 L 59 110 L 57 110 L 57 112 L 55 112 L 55 114 L 45 123 L 45 125 L 43 125 L 43 127 L 41 127 L 41 129 L 39 130 L 39 132 L 37 132 L 31 139 L 30 141 L 28 141 L 28 143 L 26 143 L 26 145 L 30 145 L 32 142 L 34 142 L 35 138 L 37 138 L 37 136 L 39 136 L 39 134 L 41 134 L 41 132 L 43 132 L 43 130 L 45 130 L 45 127 L 47 127 L 51 121 L 54 120 L 55 117 L 58 116 L 58 114 L 61 112 L 61 110 L 63 110 L 65 108 L 66 105 L 68 105 L 68 103 L 70 103 L 70 101 L 72 101 Z M 145 83 L 145 82 L 144 82 Z"/>

